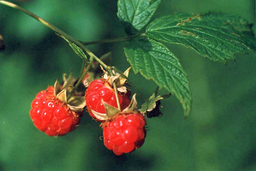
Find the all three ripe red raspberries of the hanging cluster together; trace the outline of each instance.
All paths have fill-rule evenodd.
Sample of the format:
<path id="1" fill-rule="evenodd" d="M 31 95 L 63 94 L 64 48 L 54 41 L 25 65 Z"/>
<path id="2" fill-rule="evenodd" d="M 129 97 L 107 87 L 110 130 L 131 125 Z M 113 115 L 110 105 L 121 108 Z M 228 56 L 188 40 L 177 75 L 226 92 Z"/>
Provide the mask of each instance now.
<path id="1" fill-rule="evenodd" d="M 120 112 L 106 120 L 100 120 L 93 112 L 105 114 L 102 100 L 117 107 L 114 89 L 104 79 L 92 81 L 84 93 L 90 116 L 101 122 L 104 145 L 116 155 L 130 153 L 143 145 L 146 137 L 146 121 L 138 111 Z M 119 93 L 121 110 L 130 104 L 131 92 Z M 54 87 L 39 92 L 31 103 L 30 117 L 40 131 L 49 136 L 62 136 L 73 131 L 82 117 L 81 111 L 74 111 L 68 104 L 54 95 Z M 93 111 L 93 112 L 92 112 Z"/>

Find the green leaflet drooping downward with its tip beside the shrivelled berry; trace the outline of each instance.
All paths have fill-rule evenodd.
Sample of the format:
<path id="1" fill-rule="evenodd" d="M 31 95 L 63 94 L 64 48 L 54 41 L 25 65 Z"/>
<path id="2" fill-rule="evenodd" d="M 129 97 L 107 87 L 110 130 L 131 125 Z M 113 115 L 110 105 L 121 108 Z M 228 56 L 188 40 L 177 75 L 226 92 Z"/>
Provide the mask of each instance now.
<path id="1" fill-rule="evenodd" d="M 127 41 L 124 53 L 135 74 L 140 72 L 177 96 L 187 117 L 191 106 L 187 74 L 174 54 L 162 43 L 147 37 Z"/>

